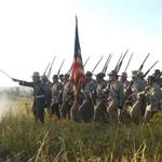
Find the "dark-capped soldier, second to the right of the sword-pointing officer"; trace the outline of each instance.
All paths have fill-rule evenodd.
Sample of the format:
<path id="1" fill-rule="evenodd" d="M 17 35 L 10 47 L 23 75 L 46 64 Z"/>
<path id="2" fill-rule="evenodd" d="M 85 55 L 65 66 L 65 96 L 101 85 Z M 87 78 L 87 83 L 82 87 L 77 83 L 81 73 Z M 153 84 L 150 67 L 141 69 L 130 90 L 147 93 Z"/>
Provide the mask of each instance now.
<path id="1" fill-rule="evenodd" d="M 60 119 L 60 111 L 59 111 L 59 92 L 63 89 L 62 83 L 58 82 L 57 75 L 53 76 L 53 85 L 52 85 L 52 102 L 51 102 L 51 110 L 52 114 L 56 114 L 57 119 Z"/>

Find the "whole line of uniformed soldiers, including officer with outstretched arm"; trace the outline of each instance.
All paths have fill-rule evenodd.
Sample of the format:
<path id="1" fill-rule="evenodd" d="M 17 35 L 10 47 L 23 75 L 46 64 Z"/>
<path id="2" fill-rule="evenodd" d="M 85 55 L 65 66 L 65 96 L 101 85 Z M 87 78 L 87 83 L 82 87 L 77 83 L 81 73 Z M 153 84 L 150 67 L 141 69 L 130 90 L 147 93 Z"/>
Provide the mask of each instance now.
<path id="1" fill-rule="evenodd" d="M 69 75 L 53 76 L 51 82 L 45 75 L 33 72 L 32 82 L 17 81 L 21 85 L 33 87 L 32 112 L 35 121 L 44 123 L 44 109 L 51 116 L 68 118 L 72 121 L 104 122 L 109 120 L 124 122 L 131 119 L 135 123 L 149 122 L 152 116 L 162 109 L 161 71 L 154 70 L 145 80 L 143 72 L 132 71 L 127 81 L 126 72 L 118 76 L 116 70 L 99 72 L 93 79 L 91 71 L 85 72 L 84 87 L 79 86 L 79 99 L 73 100 L 73 84 Z"/>

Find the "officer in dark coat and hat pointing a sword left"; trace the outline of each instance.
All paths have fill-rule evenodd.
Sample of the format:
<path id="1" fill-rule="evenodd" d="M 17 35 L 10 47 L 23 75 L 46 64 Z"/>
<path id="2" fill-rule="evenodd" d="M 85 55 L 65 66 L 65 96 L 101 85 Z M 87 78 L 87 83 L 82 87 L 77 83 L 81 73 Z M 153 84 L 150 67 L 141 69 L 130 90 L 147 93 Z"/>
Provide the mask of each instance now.
<path id="1" fill-rule="evenodd" d="M 39 72 L 33 72 L 32 82 L 27 82 L 23 80 L 13 79 L 13 81 L 17 81 L 19 85 L 33 87 L 33 105 L 32 112 L 35 116 L 35 123 L 38 123 L 40 120 L 41 123 L 44 123 L 44 105 L 45 105 L 45 90 L 41 84 Z"/>

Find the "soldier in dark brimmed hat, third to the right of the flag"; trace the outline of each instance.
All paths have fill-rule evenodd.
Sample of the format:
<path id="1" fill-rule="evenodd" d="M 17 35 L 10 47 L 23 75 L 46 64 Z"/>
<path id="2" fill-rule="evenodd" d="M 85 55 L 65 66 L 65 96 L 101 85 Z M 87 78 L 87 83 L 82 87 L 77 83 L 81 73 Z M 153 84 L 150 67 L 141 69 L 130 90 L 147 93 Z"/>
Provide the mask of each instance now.
<path id="1" fill-rule="evenodd" d="M 109 96 L 107 112 L 111 119 L 118 118 L 118 108 L 122 109 L 124 104 L 123 84 L 118 80 L 118 75 L 114 70 L 108 73 L 109 76 Z"/>

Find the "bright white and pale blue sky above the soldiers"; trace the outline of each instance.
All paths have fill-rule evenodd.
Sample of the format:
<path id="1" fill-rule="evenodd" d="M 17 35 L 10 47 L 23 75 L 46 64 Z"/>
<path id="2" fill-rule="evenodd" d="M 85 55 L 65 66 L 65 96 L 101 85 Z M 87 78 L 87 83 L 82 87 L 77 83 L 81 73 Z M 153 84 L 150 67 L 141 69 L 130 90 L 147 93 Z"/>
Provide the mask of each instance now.
<path id="1" fill-rule="evenodd" d="M 63 59 L 60 73 L 67 72 L 73 59 L 77 15 L 83 62 L 90 56 L 85 71 L 91 71 L 104 55 L 94 73 L 102 71 L 111 53 L 109 72 L 129 49 L 120 72 L 134 52 L 129 76 L 148 53 L 144 72 L 159 60 L 152 73 L 162 64 L 161 9 L 161 0 L 1 0 L 0 69 L 13 78 L 31 81 L 33 71 L 42 75 L 56 56 L 51 78 Z M 15 85 L 0 72 L 0 86 Z"/>

